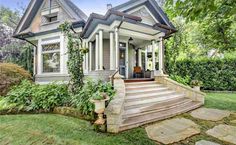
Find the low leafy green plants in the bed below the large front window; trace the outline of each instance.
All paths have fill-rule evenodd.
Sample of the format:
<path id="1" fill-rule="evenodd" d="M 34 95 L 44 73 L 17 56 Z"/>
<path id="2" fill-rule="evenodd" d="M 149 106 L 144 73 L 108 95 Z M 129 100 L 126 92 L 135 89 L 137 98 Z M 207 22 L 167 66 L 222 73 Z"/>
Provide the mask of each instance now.
<path id="1" fill-rule="evenodd" d="M 27 80 L 14 86 L 6 97 L 9 103 L 27 111 L 50 111 L 70 100 L 66 85 L 36 85 Z"/>

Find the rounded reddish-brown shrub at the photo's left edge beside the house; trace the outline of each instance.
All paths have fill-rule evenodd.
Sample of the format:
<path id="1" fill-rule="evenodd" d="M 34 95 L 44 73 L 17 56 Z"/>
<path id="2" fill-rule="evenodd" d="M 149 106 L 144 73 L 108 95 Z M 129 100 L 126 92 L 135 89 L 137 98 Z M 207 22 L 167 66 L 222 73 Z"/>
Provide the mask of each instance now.
<path id="1" fill-rule="evenodd" d="M 22 80 L 32 80 L 29 72 L 12 63 L 0 63 L 0 95 L 5 96 L 10 88 Z"/>

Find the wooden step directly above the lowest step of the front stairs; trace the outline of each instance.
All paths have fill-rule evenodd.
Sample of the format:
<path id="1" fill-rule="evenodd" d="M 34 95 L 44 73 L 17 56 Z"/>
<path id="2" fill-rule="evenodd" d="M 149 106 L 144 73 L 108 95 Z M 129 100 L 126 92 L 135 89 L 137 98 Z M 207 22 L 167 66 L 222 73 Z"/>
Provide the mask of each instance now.
<path id="1" fill-rule="evenodd" d="M 181 98 L 181 99 L 175 99 L 172 101 L 164 102 L 164 103 L 157 103 L 146 107 L 140 107 L 140 108 L 134 108 L 134 109 L 128 109 L 125 110 L 123 118 L 129 118 L 129 117 L 136 117 L 136 116 L 142 116 L 150 113 L 156 113 L 161 112 L 165 110 L 169 110 L 181 105 L 186 105 L 192 103 L 191 99 L 188 98 Z"/>

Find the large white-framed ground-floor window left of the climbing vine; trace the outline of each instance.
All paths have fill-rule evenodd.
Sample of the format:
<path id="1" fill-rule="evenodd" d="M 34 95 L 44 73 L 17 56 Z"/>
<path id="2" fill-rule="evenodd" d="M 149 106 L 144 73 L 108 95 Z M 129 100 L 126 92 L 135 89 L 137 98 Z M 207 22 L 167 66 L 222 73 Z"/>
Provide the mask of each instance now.
<path id="1" fill-rule="evenodd" d="M 60 43 L 42 45 L 43 72 L 60 72 Z"/>

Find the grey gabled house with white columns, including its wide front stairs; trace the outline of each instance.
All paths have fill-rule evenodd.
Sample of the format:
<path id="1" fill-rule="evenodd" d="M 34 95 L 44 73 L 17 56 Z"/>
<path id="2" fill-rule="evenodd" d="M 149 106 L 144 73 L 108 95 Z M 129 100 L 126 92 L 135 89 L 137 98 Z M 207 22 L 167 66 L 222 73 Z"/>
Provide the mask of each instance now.
<path id="1" fill-rule="evenodd" d="M 176 29 L 158 3 L 129 0 L 116 7 L 108 6 L 105 15 L 92 13 L 87 17 L 71 0 L 31 0 L 14 37 L 35 46 L 35 81 L 44 84 L 69 80 L 67 39 L 58 29 L 69 21 L 89 48 L 83 65 L 85 76 L 107 81 L 111 77 L 120 95 L 106 111 L 110 132 L 201 106 L 201 92 L 164 75 L 164 41 Z M 168 112 L 166 108 L 172 110 Z M 160 110 L 165 114 L 156 116 Z"/>

